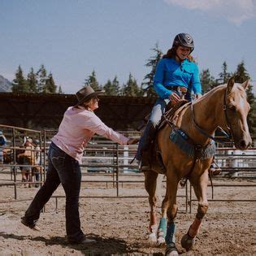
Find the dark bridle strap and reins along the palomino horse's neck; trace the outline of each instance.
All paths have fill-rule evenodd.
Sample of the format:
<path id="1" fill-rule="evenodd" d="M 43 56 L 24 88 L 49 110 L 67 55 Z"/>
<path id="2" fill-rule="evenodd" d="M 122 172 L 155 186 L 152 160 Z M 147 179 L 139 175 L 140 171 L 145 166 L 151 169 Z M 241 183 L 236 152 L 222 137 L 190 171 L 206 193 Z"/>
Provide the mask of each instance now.
<path id="1" fill-rule="evenodd" d="M 230 123 L 228 121 L 228 107 L 227 107 L 227 102 L 226 102 L 227 91 L 228 91 L 228 87 L 227 87 L 227 89 L 225 89 L 225 92 L 224 92 L 223 111 L 224 111 L 224 115 L 225 115 L 225 119 L 226 119 L 226 128 L 228 129 L 228 132 L 223 130 L 223 128 L 221 128 L 220 126 L 218 126 L 217 128 L 219 128 L 219 130 L 221 132 L 223 132 L 224 136 L 227 137 L 229 141 L 232 141 L 232 139 L 233 139 L 233 132 L 232 132 L 232 126 L 230 125 Z M 194 125 L 195 128 L 197 128 L 198 132 L 202 133 L 202 135 L 204 135 L 205 137 L 210 138 L 213 141 L 216 141 L 216 142 L 219 142 L 219 143 L 223 143 L 223 141 L 219 141 L 218 139 L 216 139 L 215 137 L 211 136 L 210 134 L 208 134 L 206 131 L 204 131 L 202 128 L 200 128 L 198 126 L 198 124 L 196 123 L 194 114 L 193 114 L 193 104 L 191 104 L 191 112 L 192 112 L 193 125 Z"/>

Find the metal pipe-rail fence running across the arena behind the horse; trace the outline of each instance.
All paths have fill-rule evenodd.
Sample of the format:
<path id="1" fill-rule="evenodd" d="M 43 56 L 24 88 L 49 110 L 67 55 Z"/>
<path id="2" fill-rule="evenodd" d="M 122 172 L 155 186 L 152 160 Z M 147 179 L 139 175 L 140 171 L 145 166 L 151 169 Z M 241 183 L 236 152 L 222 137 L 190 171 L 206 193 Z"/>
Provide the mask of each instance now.
<path id="1" fill-rule="evenodd" d="M 47 150 L 50 145 L 50 139 L 54 136 L 55 130 L 44 130 L 37 131 L 26 128 L 18 128 L 0 124 L 0 129 L 3 134 L 7 137 L 7 145 L 0 146 L 0 149 L 4 152 L 5 157 L 9 156 L 9 163 L 0 163 L 1 174 L 10 174 L 10 180 L 0 183 L 2 186 L 13 186 L 14 187 L 14 200 L 5 200 L 2 198 L 0 203 L 5 202 L 21 202 L 28 201 L 31 198 L 19 198 L 17 189 L 20 185 L 36 185 L 40 186 L 46 180 L 47 171 Z M 139 137 L 138 132 L 122 132 L 129 137 Z M 34 164 L 23 164 L 18 163 L 17 152 L 24 150 L 24 138 L 32 138 L 33 141 L 37 141 L 37 148 L 29 149 L 31 156 L 38 154 L 37 163 Z M 255 139 L 254 139 L 255 141 Z M 254 142 L 255 143 L 255 142 Z M 87 145 L 83 163 L 80 165 L 82 176 L 90 177 L 89 180 L 82 180 L 84 183 L 93 184 L 106 184 L 106 189 L 115 189 L 115 194 L 111 195 L 89 195 L 80 197 L 109 197 L 109 198 L 128 198 L 128 197 L 147 197 L 144 195 L 122 195 L 120 189 L 123 188 L 124 184 L 141 184 L 143 186 L 143 174 L 138 171 L 137 163 L 130 163 L 137 151 L 137 145 L 118 145 L 112 141 L 106 140 L 102 137 L 95 136 L 93 140 Z M 8 155 L 9 154 L 9 155 Z M 256 177 L 256 148 L 252 147 L 245 152 L 235 150 L 230 142 L 224 145 L 218 145 L 217 154 L 215 155 L 215 161 L 222 168 L 222 175 L 215 178 L 216 180 L 223 179 L 240 179 L 248 180 L 255 179 Z M 33 168 L 36 167 L 40 170 L 40 180 L 27 180 L 22 182 L 18 180 L 18 174 L 22 168 Z M 10 168 L 10 171 L 6 171 Z M 104 176 L 106 179 L 97 180 L 94 177 Z M 93 177 L 93 179 L 91 179 Z M 163 180 L 164 185 L 165 180 Z M 214 182 L 215 183 L 215 182 Z M 254 189 L 255 184 L 214 184 L 215 188 L 220 186 L 237 186 L 237 187 L 251 187 Z M 64 196 L 54 195 L 56 210 L 58 208 L 58 200 Z M 186 184 L 184 189 L 181 189 L 181 193 L 178 197 L 184 198 L 184 211 L 192 212 L 192 205 L 197 199 L 193 195 L 191 184 Z M 212 191 L 212 198 L 210 202 L 255 202 L 256 200 L 249 199 L 223 199 L 214 198 L 214 192 Z"/>

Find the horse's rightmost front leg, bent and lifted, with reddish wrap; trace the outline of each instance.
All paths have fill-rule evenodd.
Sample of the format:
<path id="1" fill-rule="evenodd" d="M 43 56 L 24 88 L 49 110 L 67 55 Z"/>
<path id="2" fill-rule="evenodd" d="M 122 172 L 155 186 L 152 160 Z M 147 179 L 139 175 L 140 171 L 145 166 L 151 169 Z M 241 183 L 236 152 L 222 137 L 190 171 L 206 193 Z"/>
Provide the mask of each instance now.
<path id="1" fill-rule="evenodd" d="M 184 249 L 189 250 L 193 248 L 195 244 L 195 237 L 199 231 L 202 223 L 202 218 L 206 215 L 208 210 L 207 202 L 207 184 L 208 184 L 208 171 L 206 170 L 199 179 L 192 179 L 193 190 L 197 196 L 198 207 L 197 215 L 192 225 L 189 227 L 189 231 L 181 239 L 181 245 Z"/>

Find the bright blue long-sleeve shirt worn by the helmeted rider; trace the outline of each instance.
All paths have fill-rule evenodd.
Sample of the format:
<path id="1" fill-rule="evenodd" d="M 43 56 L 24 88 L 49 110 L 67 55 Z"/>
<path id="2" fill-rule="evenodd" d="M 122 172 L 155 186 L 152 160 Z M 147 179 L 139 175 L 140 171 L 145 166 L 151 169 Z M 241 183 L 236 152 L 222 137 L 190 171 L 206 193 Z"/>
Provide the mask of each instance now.
<path id="1" fill-rule="evenodd" d="M 169 98 L 172 91 L 169 86 L 184 86 L 193 93 L 202 93 L 199 71 L 196 63 L 184 59 L 160 59 L 154 74 L 154 89 L 160 98 Z"/>

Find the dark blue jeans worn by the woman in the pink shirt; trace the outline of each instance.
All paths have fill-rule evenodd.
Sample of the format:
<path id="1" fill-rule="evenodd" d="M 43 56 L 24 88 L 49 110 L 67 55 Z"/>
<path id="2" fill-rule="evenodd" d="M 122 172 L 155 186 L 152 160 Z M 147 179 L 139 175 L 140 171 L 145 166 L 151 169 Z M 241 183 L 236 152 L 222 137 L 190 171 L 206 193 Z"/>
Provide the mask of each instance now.
<path id="1" fill-rule="evenodd" d="M 61 183 L 66 194 L 67 240 L 79 242 L 85 237 L 80 229 L 78 210 L 81 182 L 79 163 L 75 158 L 60 150 L 54 143 L 50 145 L 48 162 L 49 167 L 46 174 L 46 182 L 37 192 L 24 217 L 28 223 L 37 223 L 41 209 L 49 201 L 51 195 Z"/>

